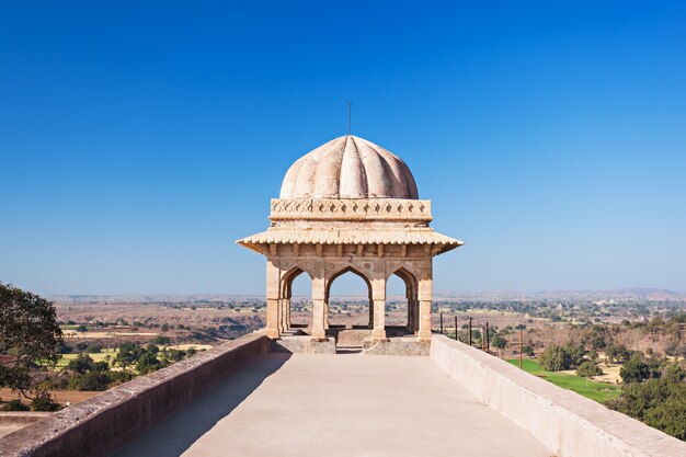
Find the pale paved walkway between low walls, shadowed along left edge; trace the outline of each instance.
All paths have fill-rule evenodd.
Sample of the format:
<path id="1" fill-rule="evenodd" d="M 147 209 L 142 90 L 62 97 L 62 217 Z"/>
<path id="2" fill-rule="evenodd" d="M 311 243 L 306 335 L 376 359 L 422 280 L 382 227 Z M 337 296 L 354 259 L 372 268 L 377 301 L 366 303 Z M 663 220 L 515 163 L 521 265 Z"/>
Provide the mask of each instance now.
<path id="1" fill-rule="evenodd" d="M 121 449 L 130 456 L 549 457 L 428 357 L 270 354 Z"/>

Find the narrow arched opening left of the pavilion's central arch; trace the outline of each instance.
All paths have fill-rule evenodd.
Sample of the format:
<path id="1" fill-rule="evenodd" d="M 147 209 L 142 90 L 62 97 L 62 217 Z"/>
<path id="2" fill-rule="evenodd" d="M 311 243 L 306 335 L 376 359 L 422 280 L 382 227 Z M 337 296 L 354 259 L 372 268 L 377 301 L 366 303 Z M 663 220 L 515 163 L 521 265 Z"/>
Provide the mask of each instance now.
<path id="1" fill-rule="evenodd" d="M 283 278 L 282 316 L 285 329 L 312 327 L 312 279 L 301 269 L 294 269 Z"/>

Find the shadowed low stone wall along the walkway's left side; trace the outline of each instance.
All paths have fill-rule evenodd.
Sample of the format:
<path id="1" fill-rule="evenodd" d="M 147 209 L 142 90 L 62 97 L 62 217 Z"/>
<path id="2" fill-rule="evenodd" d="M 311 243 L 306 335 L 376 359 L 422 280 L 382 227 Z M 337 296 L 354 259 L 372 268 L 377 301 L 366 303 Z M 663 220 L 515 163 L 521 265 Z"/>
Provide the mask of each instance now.
<path id="1" fill-rule="evenodd" d="M 268 351 L 252 333 L 117 386 L 0 438 L 0 456 L 106 456 Z"/>

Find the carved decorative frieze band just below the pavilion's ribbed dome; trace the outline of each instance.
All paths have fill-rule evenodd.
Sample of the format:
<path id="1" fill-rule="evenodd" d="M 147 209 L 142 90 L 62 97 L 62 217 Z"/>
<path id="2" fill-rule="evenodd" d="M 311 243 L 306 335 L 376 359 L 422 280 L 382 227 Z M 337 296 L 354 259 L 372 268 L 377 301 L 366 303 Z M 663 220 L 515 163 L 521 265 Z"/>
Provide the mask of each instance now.
<path id="1" fill-rule="evenodd" d="M 272 198 L 272 220 L 431 221 L 431 201 L 399 198 Z"/>

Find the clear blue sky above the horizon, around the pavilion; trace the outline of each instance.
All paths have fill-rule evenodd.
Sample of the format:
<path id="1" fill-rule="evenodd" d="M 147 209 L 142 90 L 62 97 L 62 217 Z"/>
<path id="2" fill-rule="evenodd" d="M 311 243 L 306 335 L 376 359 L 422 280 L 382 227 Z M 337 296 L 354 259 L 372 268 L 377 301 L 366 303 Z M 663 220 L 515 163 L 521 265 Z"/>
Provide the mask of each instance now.
<path id="1" fill-rule="evenodd" d="M 686 290 L 683 1 L 2 2 L 0 281 L 263 293 L 348 99 L 467 243 L 435 289 Z"/>

